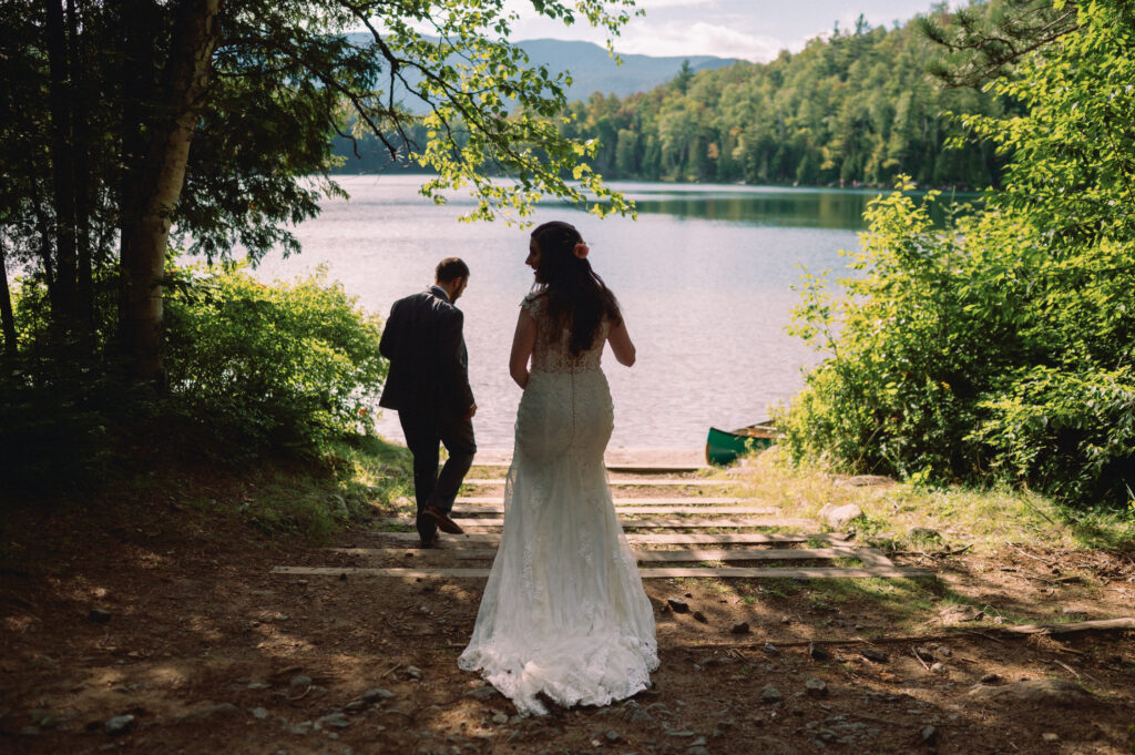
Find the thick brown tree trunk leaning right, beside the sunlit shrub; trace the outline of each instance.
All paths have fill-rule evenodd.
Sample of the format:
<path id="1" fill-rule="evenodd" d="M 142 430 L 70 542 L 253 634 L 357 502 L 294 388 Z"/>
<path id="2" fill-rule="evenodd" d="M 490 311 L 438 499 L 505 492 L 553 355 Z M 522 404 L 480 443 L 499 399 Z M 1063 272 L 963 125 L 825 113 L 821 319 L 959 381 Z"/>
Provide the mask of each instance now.
<path id="1" fill-rule="evenodd" d="M 121 271 L 127 349 L 135 376 L 161 384 L 161 278 L 169 226 L 185 181 L 197 114 L 219 37 L 220 0 L 182 0 L 162 75 L 163 107 L 149 134 L 136 215 L 124 228 Z"/>

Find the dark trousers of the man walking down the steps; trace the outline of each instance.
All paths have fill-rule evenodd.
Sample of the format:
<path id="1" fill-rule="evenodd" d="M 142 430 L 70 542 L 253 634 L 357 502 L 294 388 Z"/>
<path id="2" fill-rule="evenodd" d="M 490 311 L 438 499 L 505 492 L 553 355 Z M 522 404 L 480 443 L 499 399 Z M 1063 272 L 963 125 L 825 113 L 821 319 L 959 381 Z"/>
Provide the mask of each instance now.
<path id="1" fill-rule="evenodd" d="M 473 464 L 477 443 L 473 422 L 468 417 L 439 413 L 432 409 L 400 409 L 398 421 L 406 436 L 406 446 L 414 455 L 414 498 L 418 502 L 418 535 L 429 543 L 437 536 L 437 523 L 423 517 L 427 506 L 444 514 L 453 511 L 461 481 Z M 438 475 L 439 444 L 445 444 L 449 458 Z"/>

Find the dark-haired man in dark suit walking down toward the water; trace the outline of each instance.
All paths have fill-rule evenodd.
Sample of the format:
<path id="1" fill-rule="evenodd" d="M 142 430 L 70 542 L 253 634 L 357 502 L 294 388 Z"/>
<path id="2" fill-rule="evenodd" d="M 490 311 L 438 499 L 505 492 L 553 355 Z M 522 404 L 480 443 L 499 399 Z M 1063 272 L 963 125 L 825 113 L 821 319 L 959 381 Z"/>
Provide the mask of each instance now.
<path id="1" fill-rule="evenodd" d="M 398 412 L 406 445 L 414 455 L 418 534 L 435 547 L 437 530 L 461 534 L 449 519 L 461 480 L 473 463 L 473 392 L 461 329 L 464 316 L 453 305 L 469 283 L 469 266 L 456 257 L 442 260 L 435 284 L 394 302 L 378 350 L 390 361 L 379 405 Z M 437 473 L 438 444 L 449 459 Z"/>

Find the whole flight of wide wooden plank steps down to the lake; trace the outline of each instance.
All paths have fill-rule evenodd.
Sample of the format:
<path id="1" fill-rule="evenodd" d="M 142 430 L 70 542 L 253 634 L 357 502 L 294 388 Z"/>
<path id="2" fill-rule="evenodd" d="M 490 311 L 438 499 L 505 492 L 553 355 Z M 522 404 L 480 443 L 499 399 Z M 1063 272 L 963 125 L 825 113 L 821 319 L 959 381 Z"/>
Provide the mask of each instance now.
<path id="1" fill-rule="evenodd" d="M 352 565 L 276 567 L 272 573 L 304 577 L 485 578 L 504 525 L 507 464 L 477 464 L 453 519 L 464 535 L 439 535 L 442 547 L 417 547 L 413 503 L 380 521 L 367 547 L 327 548 L 329 560 Z M 613 465 L 608 480 L 644 579 L 709 578 L 911 578 L 924 569 L 897 567 L 875 548 L 851 545 L 842 532 L 821 532 L 814 520 L 783 517 L 759 501 L 722 495 L 735 486 L 709 479 L 705 468 L 649 463 Z M 648 531 L 644 531 L 648 530 Z M 695 531 L 699 530 L 699 531 Z M 413 563 L 413 565 L 407 565 Z M 726 565 L 729 564 L 729 565 Z M 790 564 L 790 565 L 782 565 Z"/>

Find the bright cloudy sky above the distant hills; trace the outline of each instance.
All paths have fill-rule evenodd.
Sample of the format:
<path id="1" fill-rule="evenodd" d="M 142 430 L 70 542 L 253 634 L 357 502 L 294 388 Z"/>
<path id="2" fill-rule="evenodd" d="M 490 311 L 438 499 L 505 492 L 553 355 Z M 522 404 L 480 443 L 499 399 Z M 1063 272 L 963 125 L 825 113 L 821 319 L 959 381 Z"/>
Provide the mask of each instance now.
<path id="1" fill-rule="evenodd" d="M 637 0 L 646 16 L 632 18 L 615 40 L 615 51 L 649 56 L 712 54 L 767 62 L 787 49 L 829 34 L 835 22 L 854 28 L 863 14 L 872 26 L 905 23 L 930 10 L 934 0 Z M 600 30 L 565 27 L 540 18 L 530 0 L 508 0 L 522 15 L 513 40 L 552 37 L 604 44 Z M 951 6 L 959 5 L 951 2 Z"/>

